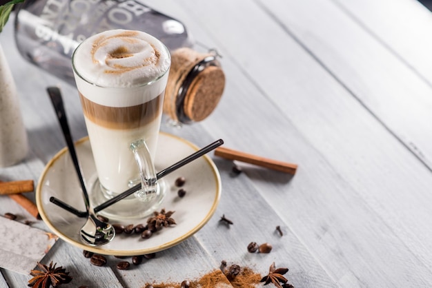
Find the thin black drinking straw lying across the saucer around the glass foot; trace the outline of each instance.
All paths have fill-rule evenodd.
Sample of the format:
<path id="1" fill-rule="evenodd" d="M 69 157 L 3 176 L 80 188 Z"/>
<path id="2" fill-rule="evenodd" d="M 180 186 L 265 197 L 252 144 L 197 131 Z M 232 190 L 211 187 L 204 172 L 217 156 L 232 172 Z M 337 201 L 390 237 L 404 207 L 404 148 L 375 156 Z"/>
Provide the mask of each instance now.
<path id="1" fill-rule="evenodd" d="M 170 174 L 171 172 L 179 169 L 180 167 L 182 167 L 182 166 L 194 161 L 195 159 L 203 156 L 204 154 L 207 154 L 208 152 L 215 150 L 217 147 L 219 147 L 222 144 L 224 144 L 224 141 L 222 139 L 219 139 L 219 140 L 207 145 L 206 147 L 198 150 L 197 152 L 190 154 L 186 158 L 181 159 L 177 163 L 174 163 L 170 167 L 163 169 L 161 172 L 158 172 L 156 174 L 156 178 L 159 180 L 160 178 Z M 139 183 L 138 185 L 135 185 L 134 187 L 131 187 L 130 189 L 127 189 L 125 192 L 122 192 L 121 194 L 115 196 L 114 198 L 107 200 L 106 202 L 102 203 L 101 205 L 95 207 L 95 209 L 93 209 L 93 210 L 95 211 L 95 213 L 97 213 L 97 212 L 111 206 L 112 204 L 117 203 L 119 200 L 126 198 L 126 197 L 130 196 L 131 194 L 134 194 L 139 189 L 141 189 L 141 183 Z M 50 198 L 50 201 L 52 203 L 58 205 L 59 207 L 66 209 L 68 212 L 75 214 L 79 217 L 85 217 L 87 215 L 86 212 L 81 212 L 81 211 L 75 209 L 74 207 L 64 203 L 63 201 L 61 201 L 61 200 L 59 200 L 53 196 Z"/>

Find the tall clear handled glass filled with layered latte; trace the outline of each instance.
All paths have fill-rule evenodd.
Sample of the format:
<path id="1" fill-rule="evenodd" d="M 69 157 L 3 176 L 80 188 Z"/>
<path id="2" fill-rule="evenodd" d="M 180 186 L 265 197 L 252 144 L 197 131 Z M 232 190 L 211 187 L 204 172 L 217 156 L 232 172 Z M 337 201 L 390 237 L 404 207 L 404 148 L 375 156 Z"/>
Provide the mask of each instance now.
<path id="1" fill-rule="evenodd" d="M 150 214 L 164 198 L 153 161 L 170 68 L 168 49 L 144 32 L 108 30 L 77 47 L 72 68 L 97 170 L 90 181 L 91 204 L 103 203 L 141 181 L 143 188 L 135 197 L 103 214 Z"/>

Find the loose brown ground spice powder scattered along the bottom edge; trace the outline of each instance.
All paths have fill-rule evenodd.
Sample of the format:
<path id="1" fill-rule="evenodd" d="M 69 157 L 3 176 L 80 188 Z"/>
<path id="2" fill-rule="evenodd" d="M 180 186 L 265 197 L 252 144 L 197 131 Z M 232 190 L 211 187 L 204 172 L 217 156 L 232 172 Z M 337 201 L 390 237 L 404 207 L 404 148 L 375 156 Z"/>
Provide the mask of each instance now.
<path id="1" fill-rule="evenodd" d="M 217 269 L 205 274 L 198 280 L 190 280 L 190 288 L 255 288 L 261 278 L 262 276 L 260 274 L 257 274 L 252 269 L 245 267 L 233 280 L 229 281 L 222 271 Z M 148 283 L 147 285 L 152 285 L 154 288 L 179 288 L 181 283 L 162 282 L 158 284 Z M 146 286 L 144 286 L 144 288 L 145 287 Z"/>

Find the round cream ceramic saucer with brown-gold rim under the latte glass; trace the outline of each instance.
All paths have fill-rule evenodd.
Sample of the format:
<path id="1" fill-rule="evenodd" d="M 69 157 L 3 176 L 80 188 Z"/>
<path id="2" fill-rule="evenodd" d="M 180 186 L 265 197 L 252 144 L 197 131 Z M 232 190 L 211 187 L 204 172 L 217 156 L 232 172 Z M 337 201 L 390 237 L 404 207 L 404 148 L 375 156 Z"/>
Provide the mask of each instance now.
<path id="1" fill-rule="evenodd" d="M 88 138 L 82 138 L 75 143 L 79 161 L 86 179 L 96 174 L 95 163 Z M 199 150 L 188 141 L 171 134 L 159 134 L 159 142 L 155 160 L 157 171 L 164 169 L 182 158 Z M 134 163 L 135 164 L 135 163 Z M 183 186 L 186 196 L 179 198 L 174 185 L 179 176 L 186 178 Z M 175 211 L 173 218 L 177 225 L 166 227 L 153 234 L 148 239 L 142 239 L 139 234 L 119 234 L 107 245 L 90 247 L 79 239 L 79 229 L 86 222 L 70 212 L 50 203 L 50 197 L 55 196 L 81 211 L 85 211 L 84 201 L 79 188 L 79 181 L 67 148 L 63 148 L 46 165 L 36 191 L 36 202 L 39 213 L 46 225 L 66 242 L 99 254 L 134 256 L 150 254 L 173 247 L 192 236 L 210 220 L 215 213 L 221 195 L 221 181 L 215 163 L 202 156 L 197 160 L 177 169 L 164 177 L 169 186 L 166 197 L 160 208 Z M 89 183 L 87 183 L 89 184 Z M 110 221 L 124 225 L 146 224 L 146 218 L 127 220 L 127 222 Z"/>

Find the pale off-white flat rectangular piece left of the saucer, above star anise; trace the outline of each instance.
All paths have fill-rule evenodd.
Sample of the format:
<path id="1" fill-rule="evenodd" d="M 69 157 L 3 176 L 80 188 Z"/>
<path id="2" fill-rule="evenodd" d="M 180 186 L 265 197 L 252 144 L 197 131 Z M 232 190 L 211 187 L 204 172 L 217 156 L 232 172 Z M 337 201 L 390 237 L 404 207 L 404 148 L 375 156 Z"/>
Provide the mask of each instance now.
<path id="1" fill-rule="evenodd" d="M 55 234 L 0 216 L 0 267 L 28 275 L 57 239 Z"/>

